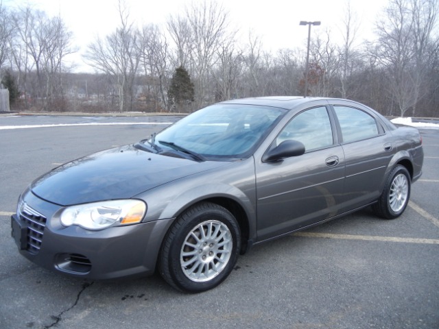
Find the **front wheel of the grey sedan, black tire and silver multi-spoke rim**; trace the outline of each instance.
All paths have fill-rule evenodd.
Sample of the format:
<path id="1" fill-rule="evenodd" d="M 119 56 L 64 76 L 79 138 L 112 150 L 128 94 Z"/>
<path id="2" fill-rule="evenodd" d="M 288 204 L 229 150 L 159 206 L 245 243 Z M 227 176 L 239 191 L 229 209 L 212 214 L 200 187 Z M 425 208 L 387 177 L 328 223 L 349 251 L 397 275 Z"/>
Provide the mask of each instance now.
<path id="1" fill-rule="evenodd" d="M 203 202 L 182 213 L 163 240 L 158 269 L 172 287 L 199 293 L 226 280 L 235 267 L 241 234 L 233 215 Z"/>

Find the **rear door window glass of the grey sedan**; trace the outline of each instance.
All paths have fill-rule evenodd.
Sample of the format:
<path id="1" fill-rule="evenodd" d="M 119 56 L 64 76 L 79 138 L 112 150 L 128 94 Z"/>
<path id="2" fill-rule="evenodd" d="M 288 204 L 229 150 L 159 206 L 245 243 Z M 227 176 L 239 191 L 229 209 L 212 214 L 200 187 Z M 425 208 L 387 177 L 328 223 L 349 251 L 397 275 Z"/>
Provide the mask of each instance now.
<path id="1" fill-rule="evenodd" d="M 378 136 L 377 122 L 366 112 L 346 106 L 334 106 L 334 110 L 342 128 L 343 143 Z"/>

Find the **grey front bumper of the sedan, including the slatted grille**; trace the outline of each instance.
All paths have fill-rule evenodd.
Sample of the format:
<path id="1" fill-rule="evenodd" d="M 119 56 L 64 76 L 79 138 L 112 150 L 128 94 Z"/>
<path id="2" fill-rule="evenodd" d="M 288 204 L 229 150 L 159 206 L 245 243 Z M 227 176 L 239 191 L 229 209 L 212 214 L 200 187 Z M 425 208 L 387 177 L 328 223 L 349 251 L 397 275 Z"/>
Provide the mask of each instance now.
<path id="1" fill-rule="evenodd" d="M 154 272 L 163 237 L 174 219 L 91 231 L 60 224 L 60 206 L 23 196 L 26 208 L 12 215 L 12 237 L 20 253 L 46 269 L 104 280 Z"/>

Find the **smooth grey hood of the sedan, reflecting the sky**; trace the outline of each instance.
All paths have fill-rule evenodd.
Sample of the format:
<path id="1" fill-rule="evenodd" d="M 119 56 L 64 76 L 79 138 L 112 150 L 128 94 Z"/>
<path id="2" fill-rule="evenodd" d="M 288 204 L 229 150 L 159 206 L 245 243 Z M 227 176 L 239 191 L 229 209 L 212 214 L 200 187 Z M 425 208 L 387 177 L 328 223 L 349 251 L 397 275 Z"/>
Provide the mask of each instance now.
<path id="1" fill-rule="evenodd" d="M 42 199 L 70 206 L 130 198 L 172 180 L 226 164 L 152 154 L 126 145 L 63 164 L 35 180 L 31 188 Z"/>

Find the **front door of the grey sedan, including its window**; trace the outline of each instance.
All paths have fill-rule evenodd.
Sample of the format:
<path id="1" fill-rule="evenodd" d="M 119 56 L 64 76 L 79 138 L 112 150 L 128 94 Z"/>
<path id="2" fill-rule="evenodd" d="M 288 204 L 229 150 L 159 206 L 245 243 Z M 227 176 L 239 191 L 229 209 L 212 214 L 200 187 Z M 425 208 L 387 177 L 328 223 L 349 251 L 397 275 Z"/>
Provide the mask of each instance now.
<path id="1" fill-rule="evenodd" d="M 275 162 L 256 161 L 258 241 L 337 214 L 344 154 L 333 127 L 327 107 L 304 110 L 285 125 L 272 147 L 292 139 L 305 145 L 305 154 Z"/>

